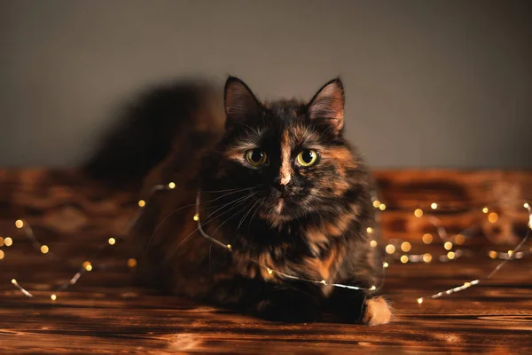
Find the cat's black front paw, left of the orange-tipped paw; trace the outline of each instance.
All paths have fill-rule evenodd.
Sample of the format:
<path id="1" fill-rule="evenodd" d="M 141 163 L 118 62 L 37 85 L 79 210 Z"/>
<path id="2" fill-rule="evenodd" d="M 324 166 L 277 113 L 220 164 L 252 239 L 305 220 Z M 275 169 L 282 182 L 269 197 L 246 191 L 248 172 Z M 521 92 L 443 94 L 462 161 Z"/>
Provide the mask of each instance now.
<path id="1" fill-rule="evenodd" d="M 258 316 L 267 320 L 287 323 L 308 323 L 321 317 L 320 304 L 311 296 L 299 292 L 286 292 L 257 304 Z"/>

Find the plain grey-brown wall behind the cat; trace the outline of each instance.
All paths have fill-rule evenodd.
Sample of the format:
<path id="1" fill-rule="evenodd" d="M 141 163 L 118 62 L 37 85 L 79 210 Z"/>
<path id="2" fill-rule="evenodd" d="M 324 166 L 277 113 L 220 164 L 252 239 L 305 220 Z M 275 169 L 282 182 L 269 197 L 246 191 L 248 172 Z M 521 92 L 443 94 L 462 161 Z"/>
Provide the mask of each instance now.
<path id="1" fill-rule="evenodd" d="M 530 168 L 528 3 L 0 0 L 0 165 L 73 165 L 146 83 L 231 73 L 262 99 L 340 74 L 373 167 Z"/>

